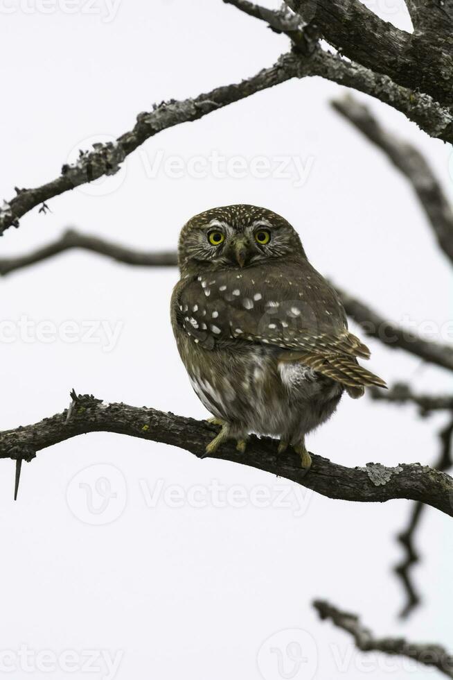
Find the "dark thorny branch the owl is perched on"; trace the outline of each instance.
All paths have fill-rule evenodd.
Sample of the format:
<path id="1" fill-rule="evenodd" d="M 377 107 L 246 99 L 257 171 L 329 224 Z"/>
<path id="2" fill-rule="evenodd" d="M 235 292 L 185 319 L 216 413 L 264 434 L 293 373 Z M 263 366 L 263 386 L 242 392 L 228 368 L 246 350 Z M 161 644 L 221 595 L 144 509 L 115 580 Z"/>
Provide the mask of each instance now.
<path id="1" fill-rule="evenodd" d="M 75 396 L 68 410 L 40 423 L 0 432 L 0 458 L 31 460 L 35 454 L 60 441 L 88 432 L 116 432 L 177 446 L 197 457 L 204 456 L 206 444 L 218 428 L 150 408 L 125 404 L 105 405 L 93 396 Z M 363 468 L 346 468 L 313 455 L 310 473 L 305 475 L 298 454 L 277 456 L 277 442 L 252 436 L 242 454 L 234 443 L 222 445 L 215 458 L 248 465 L 297 482 L 328 498 L 358 502 L 384 502 L 407 498 L 427 503 L 453 516 L 453 478 L 428 466 L 400 464 L 387 468 L 369 463 Z M 347 454 L 344 454 L 345 459 Z"/>

